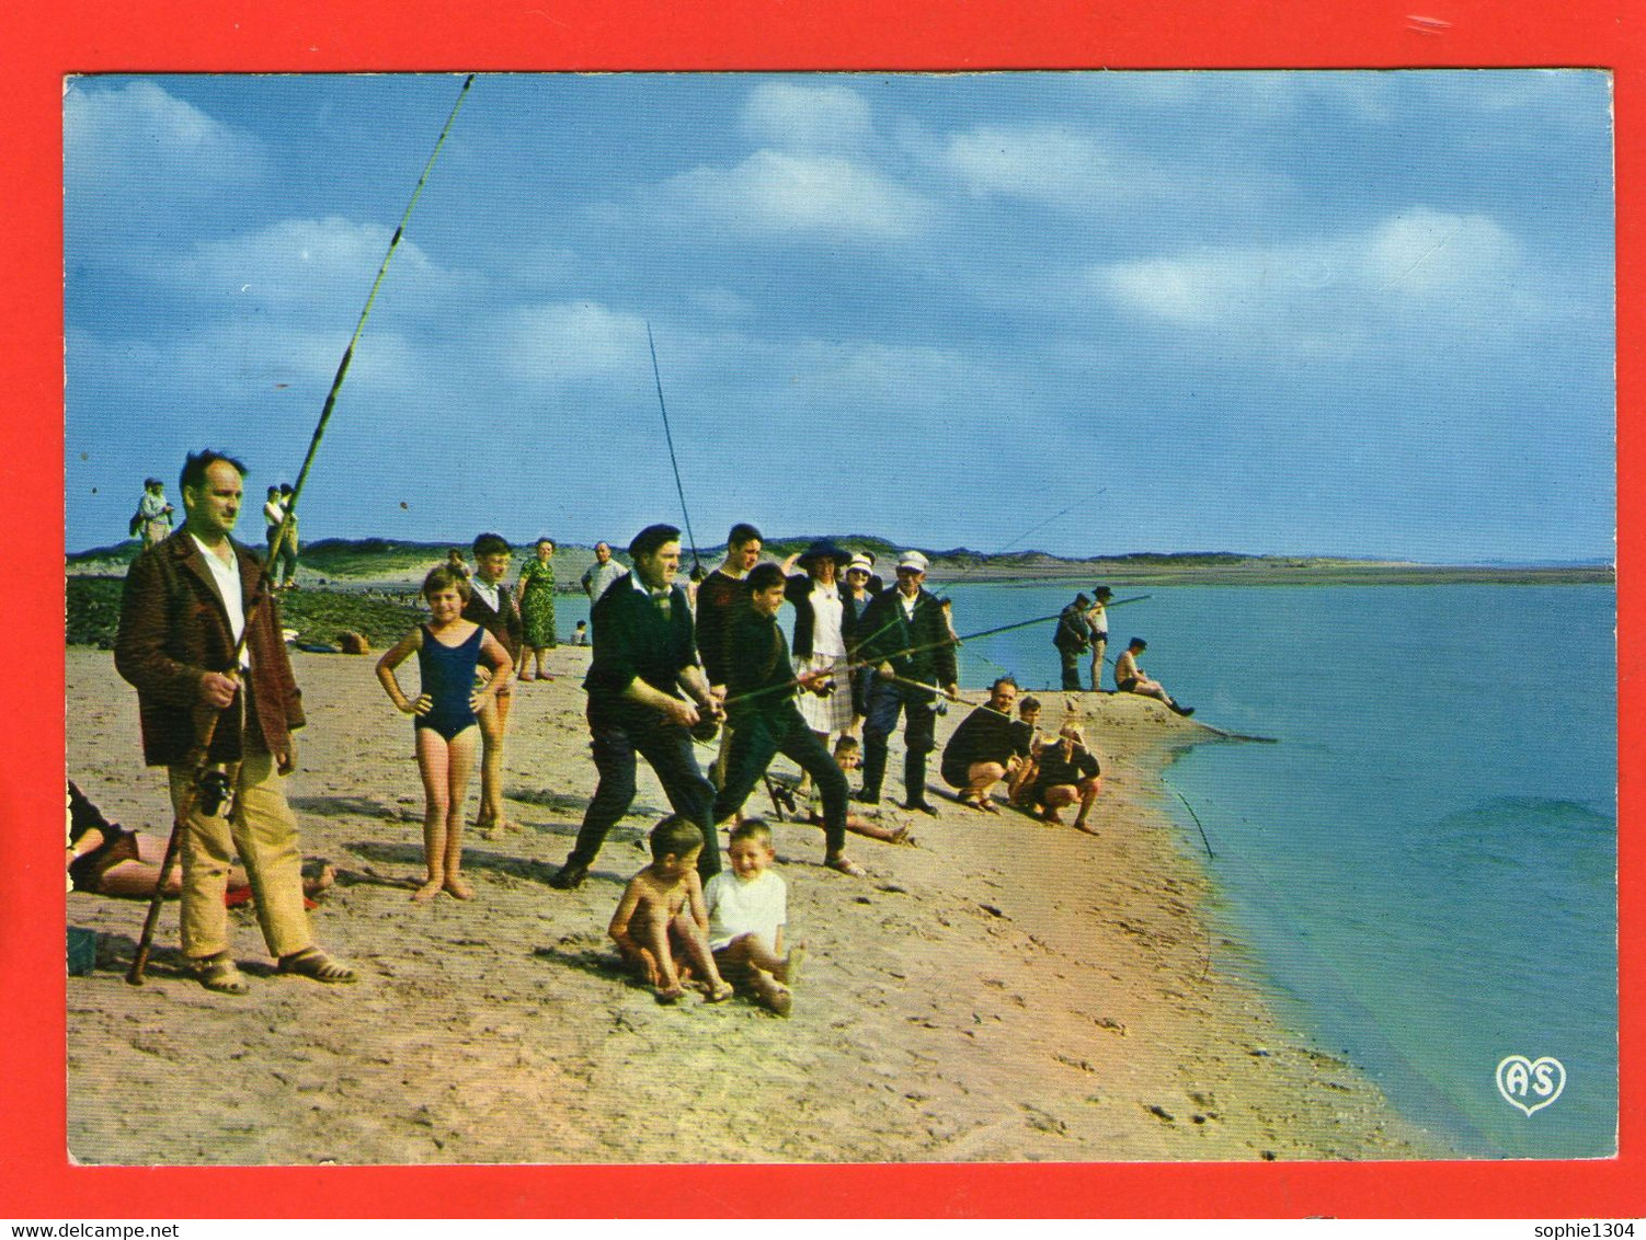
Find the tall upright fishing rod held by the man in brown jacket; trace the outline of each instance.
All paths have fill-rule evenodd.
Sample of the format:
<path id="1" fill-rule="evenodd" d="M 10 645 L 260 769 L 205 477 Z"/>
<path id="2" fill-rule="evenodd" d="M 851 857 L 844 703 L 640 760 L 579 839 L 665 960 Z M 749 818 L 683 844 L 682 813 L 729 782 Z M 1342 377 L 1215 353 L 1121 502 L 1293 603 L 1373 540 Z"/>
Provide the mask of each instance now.
<path id="1" fill-rule="evenodd" d="M 469 97 L 469 87 L 474 86 L 474 74 L 463 79 L 463 89 L 458 92 L 458 102 L 451 107 L 451 115 L 446 117 L 446 125 L 439 132 L 439 140 L 435 143 L 435 150 L 428 156 L 428 163 L 423 164 L 423 174 L 416 179 L 416 187 L 412 191 L 412 199 L 407 202 L 405 214 L 400 217 L 398 227 L 395 227 L 395 235 L 388 238 L 388 252 L 384 255 L 384 261 L 377 268 L 377 278 L 372 281 L 372 291 L 365 298 L 365 308 L 360 311 L 359 322 L 354 324 L 354 335 L 349 337 L 349 347 L 342 350 L 342 360 L 337 363 L 337 373 L 331 380 L 331 390 L 326 393 L 326 403 L 319 411 L 319 423 L 314 426 L 314 434 L 309 439 L 308 454 L 303 457 L 303 467 L 298 470 L 298 479 L 291 484 L 291 498 L 286 502 L 285 518 L 280 521 L 280 528 L 275 539 L 268 544 L 268 554 L 263 559 L 262 571 L 257 577 L 257 589 L 252 594 L 252 602 L 245 608 L 245 623 L 240 627 L 240 636 L 235 638 L 234 655 L 229 659 L 227 674 L 239 681 L 240 658 L 245 655 L 245 643 L 252 635 L 252 622 L 257 617 L 257 608 L 265 599 L 273 597 L 273 569 L 275 561 L 280 556 L 280 549 L 293 536 L 296 526 L 296 508 L 298 497 L 303 495 L 303 484 L 308 480 L 309 469 L 314 465 L 314 456 L 319 452 L 319 442 L 326 434 L 326 423 L 331 421 L 331 411 L 337 403 L 337 391 L 342 388 L 342 380 L 349 373 L 349 363 L 354 360 L 354 349 L 360 342 L 360 334 L 365 331 L 365 319 L 372 312 L 372 303 L 377 301 L 377 289 L 384 285 L 384 275 L 388 271 L 388 261 L 395 257 L 395 250 L 400 247 L 400 238 L 405 235 L 407 224 L 412 220 L 412 211 L 416 207 L 418 197 L 423 194 L 423 184 L 428 181 L 430 169 L 435 166 L 435 160 L 439 158 L 441 146 L 446 145 L 446 135 L 451 133 L 453 122 L 458 120 L 458 112 L 463 109 L 463 100 Z M 201 796 L 201 783 L 207 776 L 207 766 L 211 765 L 211 743 L 217 735 L 217 722 L 222 719 L 224 707 L 209 707 L 209 714 L 196 722 L 196 743 L 189 750 L 188 765 L 194 768 L 194 778 L 189 781 L 188 791 L 183 794 L 183 804 L 179 806 L 176 816 L 171 819 L 171 837 L 166 840 L 166 852 L 160 862 L 160 878 L 155 881 L 155 896 L 148 901 L 148 916 L 143 919 L 143 932 L 137 941 L 137 951 L 132 955 L 132 969 L 127 972 L 125 980 L 135 987 L 143 985 L 143 970 L 148 967 L 148 952 L 155 942 L 155 928 L 160 924 L 160 909 L 166 901 L 166 877 L 171 873 L 171 867 L 176 865 L 178 852 L 183 847 L 183 831 L 184 822 L 194 812 L 194 807 Z M 230 784 L 219 781 L 217 788 L 212 789 L 214 798 L 227 796 Z M 221 799 L 214 803 L 214 809 L 221 807 Z"/>

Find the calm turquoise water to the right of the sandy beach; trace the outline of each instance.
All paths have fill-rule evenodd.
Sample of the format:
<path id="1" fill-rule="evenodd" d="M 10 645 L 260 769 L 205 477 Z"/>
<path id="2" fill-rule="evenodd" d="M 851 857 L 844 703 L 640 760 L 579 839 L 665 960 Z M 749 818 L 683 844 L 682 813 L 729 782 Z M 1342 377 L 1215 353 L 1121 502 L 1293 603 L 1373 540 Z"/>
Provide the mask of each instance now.
<path id="1" fill-rule="evenodd" d="M 956 627 L 1049 615 L 1073 589 L 960 584 Z M 1169 783 L 1292 1015 L 1467 1154 L 1613 1153 L 1613 590 L 1121 594 L 1142 592 L 1111 613 L 1111 638 L 1147 638 L 1144 666 L 1197 720 L 1281 742 L 1197 747 Z M 1055 686 L 1050 636 L 968 643 L 963 682 L 1009 669 Z M 1559 1059 L 1560 1097 L 1509 1107 L 1495 1082 L 1509 1054 Z"/>

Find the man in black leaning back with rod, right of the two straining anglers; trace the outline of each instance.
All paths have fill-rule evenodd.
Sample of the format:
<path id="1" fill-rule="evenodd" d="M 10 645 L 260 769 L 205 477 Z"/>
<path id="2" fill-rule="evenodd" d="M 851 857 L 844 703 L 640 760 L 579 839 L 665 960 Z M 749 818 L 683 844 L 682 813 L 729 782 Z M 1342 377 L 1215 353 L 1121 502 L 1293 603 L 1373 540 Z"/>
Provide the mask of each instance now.
<path id="1" fill-rule="evenodd" d="M 780 566 L 757 564 L 749 572 L 749 600 L 732 615 L 724 635 L 726 717 L 734 732 L 726 778 L 714 796 L 714 821 L 736 816 L 772 758 L 783 753 L 823 794 L 823 863 L 863 878 L 863 867 L 846 855 L 846 775 L 795 706 L 797 689 L 816 692 L 825 684 L 831 692 L 848 689 L 835 686 L 826 668 L 795 678 L 788 643 L 777 627 L 787 592 L 788 577 Z"/>

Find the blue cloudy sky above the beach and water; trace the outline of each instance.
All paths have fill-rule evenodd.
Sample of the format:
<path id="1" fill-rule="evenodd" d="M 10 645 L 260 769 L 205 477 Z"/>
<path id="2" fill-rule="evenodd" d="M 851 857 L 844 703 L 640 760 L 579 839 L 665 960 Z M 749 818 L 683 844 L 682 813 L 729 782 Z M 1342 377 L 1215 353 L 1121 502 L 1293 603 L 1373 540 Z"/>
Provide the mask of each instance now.
<path id="1" fill-rule="evenodd" d="M 459 86 L 69 84 L 71 549 L 295 477 Z M 481 77 L 305 536 L 678 525 L 650 322 L 704 544 L 1610 559 L 1611 201 L 1600 72 Z"/>

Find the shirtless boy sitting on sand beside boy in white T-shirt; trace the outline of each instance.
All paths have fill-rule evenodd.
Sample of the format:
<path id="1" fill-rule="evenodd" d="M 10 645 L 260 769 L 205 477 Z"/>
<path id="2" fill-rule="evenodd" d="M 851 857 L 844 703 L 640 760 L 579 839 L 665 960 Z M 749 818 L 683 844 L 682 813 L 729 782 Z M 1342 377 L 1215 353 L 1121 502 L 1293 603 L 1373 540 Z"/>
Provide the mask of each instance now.
<path id="1" fill-rule="evenodd" d="M 703 832 L 690 819 L 670 814 L 652 827 L 649 839 L 652 863 L 629 880 L 606 932 L 635 979 L 653 988 L 658 1003 L 681 998 L 693 970 L 703 979 L 709 1003 L 731 998 L 731 987 L 709 952 L 709 914 L 696 868 Z M 686 959 L 685 969 L 675 965 L 677 951 Z"/>

